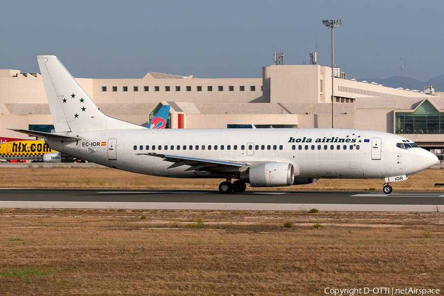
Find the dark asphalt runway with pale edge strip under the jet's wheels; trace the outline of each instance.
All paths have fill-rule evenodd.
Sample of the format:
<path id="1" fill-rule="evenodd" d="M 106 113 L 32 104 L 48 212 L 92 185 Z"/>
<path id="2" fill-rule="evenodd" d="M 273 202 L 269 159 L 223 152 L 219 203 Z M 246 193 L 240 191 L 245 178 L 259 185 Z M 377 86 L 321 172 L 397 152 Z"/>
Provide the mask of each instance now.
<path id="1" fill-rule="evenodd" d="M 444 193 L 0 188 L 0 208 L 437 212 Z"/>

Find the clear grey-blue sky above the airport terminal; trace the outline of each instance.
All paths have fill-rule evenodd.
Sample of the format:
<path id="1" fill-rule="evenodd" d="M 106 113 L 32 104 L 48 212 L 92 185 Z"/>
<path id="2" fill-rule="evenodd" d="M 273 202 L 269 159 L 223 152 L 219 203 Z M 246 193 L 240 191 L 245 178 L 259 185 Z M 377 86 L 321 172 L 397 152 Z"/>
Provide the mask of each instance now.
<path id="1" fill-rule="evenodd" d="M 315 51 L 348 77 L 444 74 L 444 1 L 415 0 L 1 0 L 0 69 L 39 72 L 56 55 L 74 77 L 142 78 L 149 71 L 209 78 L 261 77 L 285 52 Z"/>

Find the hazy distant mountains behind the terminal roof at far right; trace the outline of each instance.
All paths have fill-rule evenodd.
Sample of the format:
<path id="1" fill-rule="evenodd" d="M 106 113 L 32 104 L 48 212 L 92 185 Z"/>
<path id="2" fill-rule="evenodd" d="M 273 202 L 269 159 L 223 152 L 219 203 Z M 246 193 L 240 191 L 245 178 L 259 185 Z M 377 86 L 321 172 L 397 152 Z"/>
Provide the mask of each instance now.
<path id="1" fill-rule="evenodd" d="M 444 91 L 444 74 L 436 76 L 430 80 L 425 82 L 411 78 L 411 77 L 402 77 L 404 83 L 401 86 L 401 76 L 392 76 L 388 78 L 355 78 L 358 81 L 366 80 L 370 82 L 376 82 L 378 84 L 384 84 L 384 86 L 398 88 L 402 87 L 404 89 L 417 89 L 419 91 L 424 91 L 424 85 L 432 85 L 435 88 L 435 91 Z"/>

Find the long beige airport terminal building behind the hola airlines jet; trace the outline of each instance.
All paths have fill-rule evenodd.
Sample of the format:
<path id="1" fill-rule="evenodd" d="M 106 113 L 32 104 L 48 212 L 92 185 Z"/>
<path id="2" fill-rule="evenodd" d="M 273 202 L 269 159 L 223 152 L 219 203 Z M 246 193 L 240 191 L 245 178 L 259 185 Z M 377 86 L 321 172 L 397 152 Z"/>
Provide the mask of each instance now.
<path id="1" fill-rule="evenodd" d="M 444 148 L 444 97 L 425 90 L 390 88 L 347 79 L 334 69 L 334 127 L 403 136 L 427 149 Z M 149 72 L 143 78 L 76 78 L 106 114 L 148 124 L 171 105 L 170 128 L 331 128 L 332 68 L 263 67 L 262 78 L 196 78 Z M 52 118 L 40 74 L 0 70 L 0 137 L 7 130 L 49 131 Z"/>

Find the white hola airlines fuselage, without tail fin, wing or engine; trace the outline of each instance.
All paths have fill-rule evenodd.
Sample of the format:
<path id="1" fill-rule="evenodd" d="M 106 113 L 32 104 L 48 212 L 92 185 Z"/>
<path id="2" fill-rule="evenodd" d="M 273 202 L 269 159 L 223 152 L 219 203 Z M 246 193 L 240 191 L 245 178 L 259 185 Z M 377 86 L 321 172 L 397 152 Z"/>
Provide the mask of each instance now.
<path id="1" fill-rule="evenodd" d="M 221 178 L 233 171 L 185 171 L 189 165 L 169 168 L 172 162 L 137 154 L 199 157 L 247 166 L 286 162 L 294 166 L 295 178 L 385 178 L 414 174 L 437 161 L 425 149 L 397 147 L 409 142 L 404 137 L 368 130 L 120 129 L 67 135 L 82 139 L 46 142 L 52 149 L 108 167 L 175 178 Z"/>

